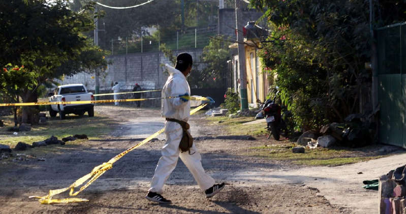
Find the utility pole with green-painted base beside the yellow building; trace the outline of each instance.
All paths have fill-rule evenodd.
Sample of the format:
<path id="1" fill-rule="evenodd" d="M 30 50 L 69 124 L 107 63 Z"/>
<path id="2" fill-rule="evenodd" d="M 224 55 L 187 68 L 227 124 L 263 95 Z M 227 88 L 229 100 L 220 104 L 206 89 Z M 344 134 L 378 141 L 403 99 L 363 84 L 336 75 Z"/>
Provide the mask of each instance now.
<path id="1" fill-rule="evenodd" d="M 241 110 L 248 109 L 247 89 L 246 89 L 246 72 L 245 72 L 245 48 L 244 38 L 242 35 L 242 28 L 244 27 L 241 21 L 241 1 L 235 0 L 235 25 L 237 29 L 237 43 L 238 43 L 238 61 L 240 67 L 240 98 Z"/>

